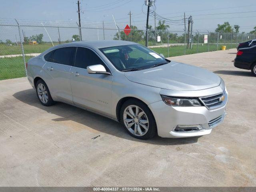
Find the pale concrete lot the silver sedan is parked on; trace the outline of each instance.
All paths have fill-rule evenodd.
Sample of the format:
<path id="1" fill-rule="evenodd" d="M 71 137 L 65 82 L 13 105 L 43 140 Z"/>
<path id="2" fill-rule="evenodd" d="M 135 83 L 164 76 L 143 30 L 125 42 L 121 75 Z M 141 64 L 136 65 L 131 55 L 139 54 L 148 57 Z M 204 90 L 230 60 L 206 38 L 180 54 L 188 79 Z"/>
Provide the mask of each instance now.
<path id="1" fill-rule="evenodd" d="M 256 186 L 256 78 L 235 53 L 171 58 L 226 82 L 228 115 L 199 138 L 137 140 L 108 118 L 42 106 L 26 78 L 0 81 L 0 186 Z"/>

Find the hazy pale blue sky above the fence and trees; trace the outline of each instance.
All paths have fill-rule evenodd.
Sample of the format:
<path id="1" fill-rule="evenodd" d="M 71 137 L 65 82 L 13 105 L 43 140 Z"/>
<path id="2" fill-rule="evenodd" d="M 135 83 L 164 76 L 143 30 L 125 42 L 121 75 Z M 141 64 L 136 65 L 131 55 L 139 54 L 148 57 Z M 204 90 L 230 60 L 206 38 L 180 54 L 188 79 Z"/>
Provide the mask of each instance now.
<path id="1" fill-rule="evenodd" d="M 145 29 L 146 11 L 144 0 L 80 0 L 82 26 L 123 29 L 129 24 L 131 11 L 132 25 Z M 78 13 L 76 0 L 0 0 L 0 24 L 21 24 L 77 26 Z M 157 14 L 170 20 L 193 17 L 194 31 L 214 31 L 217 24 L 228 21 L 232 26 L 240 26 L 240 32 L 250 32 L 256 26 L 255 0 L 156 0 Z M 242 12 L 242 13 L 241 13 Z M 158 22 L 158 20 L 156 21 Z M 149 17 L 149 24 L 154 26 L 154 18 Z M 170 25 L 170 31 L 183 31 L 183 24 Z M 9 33 L 6 30 L 6 33 Z M 92 32 L 96 33 L 96 31 Z M 101 33 L 101 32 L 100 32 Z M 1 28 L 0 28 L 1 34 Z M 0 38 L 1 39 L 1 38 Z"/>

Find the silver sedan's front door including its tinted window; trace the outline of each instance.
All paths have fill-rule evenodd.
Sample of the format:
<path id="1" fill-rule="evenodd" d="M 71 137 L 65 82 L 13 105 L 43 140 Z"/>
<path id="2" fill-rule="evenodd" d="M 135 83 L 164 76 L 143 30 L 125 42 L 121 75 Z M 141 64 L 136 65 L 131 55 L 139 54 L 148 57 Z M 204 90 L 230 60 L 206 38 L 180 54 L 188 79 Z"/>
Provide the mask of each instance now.
<path id="1" fill-rule="evenodd" d="M 102 64 L 110 72 L 96 52 L 90 48 L 77 48 L 70 78 L 73 102 L 111 116 L 112 75 L 89 74 L 86 67 L 96 64 Z"/>

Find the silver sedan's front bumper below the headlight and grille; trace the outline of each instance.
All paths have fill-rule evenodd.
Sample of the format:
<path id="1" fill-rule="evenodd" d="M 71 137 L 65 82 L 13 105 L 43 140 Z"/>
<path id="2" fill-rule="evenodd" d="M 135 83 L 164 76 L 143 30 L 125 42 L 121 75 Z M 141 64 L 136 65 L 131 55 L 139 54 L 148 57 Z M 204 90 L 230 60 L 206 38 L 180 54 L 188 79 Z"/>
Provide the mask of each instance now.
<path id="1" fill-rule="evenodd" d="M 228 97 L 228 92 L 226 92 Z M 205 106 L 172 107 L 162 100 L 149 105 L 158 129 L 158 136 L 164 138 L 185 138 L 210 134 L 225 117 L 226 103 L 220 108 L 208 110 Z M 176 131 L 177 125 L 200 125 L 200 130 Z"/>

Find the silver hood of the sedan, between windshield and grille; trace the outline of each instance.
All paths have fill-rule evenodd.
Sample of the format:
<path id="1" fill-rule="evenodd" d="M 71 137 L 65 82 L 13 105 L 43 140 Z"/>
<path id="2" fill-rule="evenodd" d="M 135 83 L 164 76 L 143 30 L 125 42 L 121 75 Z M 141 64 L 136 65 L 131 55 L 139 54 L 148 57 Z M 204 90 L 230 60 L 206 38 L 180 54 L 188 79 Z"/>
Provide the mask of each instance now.
<path id="1" fill-rule="evenodd" d="M 128 80 L 168 90 L 202 90 L 220 85 L 216 74 L 188 64 L 171 61 L 168 64 L 124 72 Z"/>

